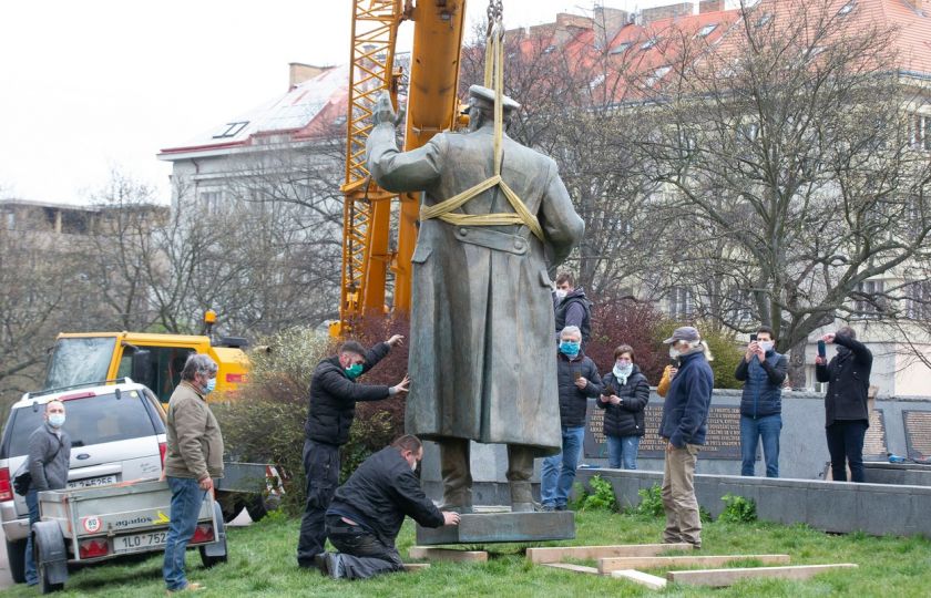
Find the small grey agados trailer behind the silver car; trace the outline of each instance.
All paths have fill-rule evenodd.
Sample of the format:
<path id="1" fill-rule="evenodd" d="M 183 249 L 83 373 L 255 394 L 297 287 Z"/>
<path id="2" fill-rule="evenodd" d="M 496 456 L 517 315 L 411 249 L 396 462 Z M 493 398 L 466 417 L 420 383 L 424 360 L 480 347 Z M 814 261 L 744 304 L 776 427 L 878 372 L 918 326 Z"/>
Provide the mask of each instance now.
<path id="1" fill-rule="evenodd" d="M 40 492 L 32 533 L 42 594 L 64 587 L 69 564 L 163 550 L 171 499 L 167 482 L 154 480 Z M 226 527 L 209 493 L 188 544 L 195 546 L 205 567 L 226 561 Z"/>

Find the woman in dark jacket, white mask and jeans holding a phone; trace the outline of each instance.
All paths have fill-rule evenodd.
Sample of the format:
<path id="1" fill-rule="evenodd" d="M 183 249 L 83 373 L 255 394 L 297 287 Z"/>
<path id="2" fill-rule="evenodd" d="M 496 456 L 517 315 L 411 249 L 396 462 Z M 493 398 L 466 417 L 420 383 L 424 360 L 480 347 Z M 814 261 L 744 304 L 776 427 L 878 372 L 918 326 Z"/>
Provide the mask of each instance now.
<path id="1" fill-rule="evenodd" d="M 604 436 L 612 468 L 637 468 L 637 448 L 644 433 L 643 411 L 649 401 L 649 382 L 634 364 L 634 350 L 622 344 L 614 350 L 614 368 L 602 378 L 604 394 L 597 405 L 604 410 Z"/>

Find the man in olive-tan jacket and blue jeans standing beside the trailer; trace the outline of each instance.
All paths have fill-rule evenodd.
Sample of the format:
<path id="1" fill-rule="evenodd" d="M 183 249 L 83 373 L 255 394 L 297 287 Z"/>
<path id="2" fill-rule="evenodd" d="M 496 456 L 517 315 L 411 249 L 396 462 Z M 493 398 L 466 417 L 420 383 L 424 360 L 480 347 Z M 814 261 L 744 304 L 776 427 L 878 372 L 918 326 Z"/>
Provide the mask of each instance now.
<path id="1" fill-rule="evenodd" d="M 213 492 L 213 478 L 223 477 L 223 436 L 207 404 L 216 372 L 209 357 L 191 355 L 168 403 L 165 476 L 172 488 L 172 511 L 162 568 L 168 592 L 202 588 L 184 576 L 184 550 L 197 527 L 204 495 Z"/>

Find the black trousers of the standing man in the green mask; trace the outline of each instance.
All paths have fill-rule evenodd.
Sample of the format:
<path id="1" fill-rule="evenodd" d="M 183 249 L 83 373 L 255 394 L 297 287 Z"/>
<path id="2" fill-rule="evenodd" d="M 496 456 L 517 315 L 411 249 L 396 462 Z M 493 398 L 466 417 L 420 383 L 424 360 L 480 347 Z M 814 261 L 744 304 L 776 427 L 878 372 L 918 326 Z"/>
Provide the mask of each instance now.
<path id="1" fill-rule="evenodd" d="M 307 502 L 300 519 L 297 563 L 313 567 L 314 556 L 324 551 L 327 542 L 326 514 L 339 483 L 339 447 L 305 440 L 304 475 L 307 476 Z"/>

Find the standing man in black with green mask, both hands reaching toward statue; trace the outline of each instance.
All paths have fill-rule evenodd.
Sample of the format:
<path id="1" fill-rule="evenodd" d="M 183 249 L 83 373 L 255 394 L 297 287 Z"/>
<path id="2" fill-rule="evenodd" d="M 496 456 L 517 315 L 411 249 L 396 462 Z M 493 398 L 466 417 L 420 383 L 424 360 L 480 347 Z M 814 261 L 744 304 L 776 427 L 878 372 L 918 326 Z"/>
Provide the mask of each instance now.
<path id="1" fill-rule="evenodd" d="M 339 447 L 349 440 L 349 426 L 359 401 L 380 401 L 407 392 L 408 377 L 395 386 L 357 384 L 356 379 L 381 361 L 403 337 L 395 334 L 366 351 L 348 341 L 339 353 L 323 360 L 310 380 L 310 409 L 304 426 L 304 474 L 307 477 L 307 503 L 300 519 L 297 563 L 313 567 L 314 557 L 324 551 L 324 517 L 339 482 Z"/>

